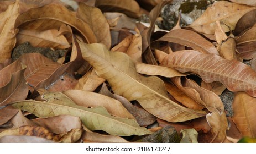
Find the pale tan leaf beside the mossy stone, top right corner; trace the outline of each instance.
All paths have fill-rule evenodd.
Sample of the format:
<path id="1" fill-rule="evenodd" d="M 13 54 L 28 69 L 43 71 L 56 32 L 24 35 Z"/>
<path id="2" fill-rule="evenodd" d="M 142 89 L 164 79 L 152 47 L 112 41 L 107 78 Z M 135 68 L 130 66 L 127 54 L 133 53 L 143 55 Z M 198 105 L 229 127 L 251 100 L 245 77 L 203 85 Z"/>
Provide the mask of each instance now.
<path id="1" fill-rule="evenodd" d="M 214 34 L 215 22 L 220 20 L 224 24 L 222 26 L 224 32 L 229 32 L 234 30 L 239 18 L 253 9 L 255 8 L 248 5 L 218 1 L 207 8 L 201 17 L 197 18 L 189 27 L 205 34 Z"/>

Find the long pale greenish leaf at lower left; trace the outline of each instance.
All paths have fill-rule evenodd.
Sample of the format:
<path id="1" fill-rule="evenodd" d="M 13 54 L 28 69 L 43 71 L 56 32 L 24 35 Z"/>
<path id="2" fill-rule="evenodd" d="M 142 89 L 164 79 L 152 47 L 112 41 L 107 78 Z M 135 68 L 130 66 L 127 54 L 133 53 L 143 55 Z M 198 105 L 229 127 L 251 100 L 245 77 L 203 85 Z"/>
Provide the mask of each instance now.
<path id="1" fill-rule="evenodd" d="M 113 117 L 103 107 L 86 108 L 77 106 L 64 94 L 60 96 L 55 96 L 57 93 L 48 92 L 46 94 L 44 94 L 43 98 L 48 100 L 48 102 L 26 100 L 15 102 L 13 106 L 31 112 L 38 117 L 50 117 L 61 114 L 79 116 L 83 124 L 90 130 L 104 130 L 112 135 L 150 134 L 150 131 L 147 129 L 139 127 L 135 120 Z"/>

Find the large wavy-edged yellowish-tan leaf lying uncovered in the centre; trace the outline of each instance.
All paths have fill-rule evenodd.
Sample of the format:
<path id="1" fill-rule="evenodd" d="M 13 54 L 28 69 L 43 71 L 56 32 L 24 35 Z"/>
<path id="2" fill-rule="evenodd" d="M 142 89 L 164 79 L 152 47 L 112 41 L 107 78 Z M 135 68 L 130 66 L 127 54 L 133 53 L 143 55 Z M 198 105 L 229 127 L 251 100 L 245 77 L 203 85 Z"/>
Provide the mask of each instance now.
<path id="1" fill-rule="evenodd" d="M 137 100 L 149 113 L 170 122 L 181 122 L 205 115 L 204 111 L 196 111 L 177 105 L 168 98 L 163 81 L 157 77 L 146 78 L 139 75 L 134 63 L 121 52 L 109 52 L 101 44 L 79 42 L 83 58 L 105 78 L 115 94 Z"/>

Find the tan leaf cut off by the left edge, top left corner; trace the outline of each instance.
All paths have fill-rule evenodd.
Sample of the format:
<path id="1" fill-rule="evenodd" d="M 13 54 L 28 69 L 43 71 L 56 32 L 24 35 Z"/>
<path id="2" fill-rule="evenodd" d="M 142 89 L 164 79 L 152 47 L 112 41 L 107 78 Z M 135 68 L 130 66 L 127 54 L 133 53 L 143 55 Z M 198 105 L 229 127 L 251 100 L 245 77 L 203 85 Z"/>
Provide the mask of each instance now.
<path id="1" fill-rule="evenodd" d="M 19 1 L 8 6 L 7 10 L 0 14 L 0 63 L 11 58 L 13 47 L 16 43 L 16 34 L 14 23 L 19 15 Z"/>

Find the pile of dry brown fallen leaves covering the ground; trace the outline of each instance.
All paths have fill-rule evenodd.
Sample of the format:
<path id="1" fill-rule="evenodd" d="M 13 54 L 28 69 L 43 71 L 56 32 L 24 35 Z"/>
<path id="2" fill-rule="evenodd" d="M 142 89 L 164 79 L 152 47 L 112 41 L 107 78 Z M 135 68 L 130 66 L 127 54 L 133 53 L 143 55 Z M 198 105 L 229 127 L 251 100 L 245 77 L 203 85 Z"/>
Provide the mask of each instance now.
<path id="1" fill-rule="evenodd" d="M 154 25 L 171 1 L 0 3 L 0 142 L 147 142 L 165 128 L 174 142 L 255 140 L 254 1 L 218 1 L 167 32 Z M 26 43 L 49 50 L 14 58 Z"/>

